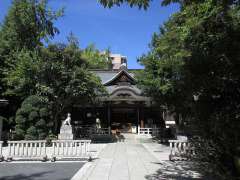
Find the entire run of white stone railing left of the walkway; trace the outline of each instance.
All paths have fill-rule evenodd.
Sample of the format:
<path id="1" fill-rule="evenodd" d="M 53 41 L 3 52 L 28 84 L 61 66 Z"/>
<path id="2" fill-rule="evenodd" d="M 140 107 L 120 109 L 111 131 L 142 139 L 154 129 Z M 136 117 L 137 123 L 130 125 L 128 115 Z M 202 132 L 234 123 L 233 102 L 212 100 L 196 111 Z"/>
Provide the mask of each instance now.
<path id="1" fill-rule="evenodd" d="M 64 158 L 90 159 L 91 140 L 52 140 L 47 147 L 46 140 L 36 141 L 8 141 L 7 155 L 3 157 L 2 144 L 0 141 L 0 161 L 12 160 L 42 160 L 52 161 Z M 49 157 L 47 156 L 49 155 Z"/>

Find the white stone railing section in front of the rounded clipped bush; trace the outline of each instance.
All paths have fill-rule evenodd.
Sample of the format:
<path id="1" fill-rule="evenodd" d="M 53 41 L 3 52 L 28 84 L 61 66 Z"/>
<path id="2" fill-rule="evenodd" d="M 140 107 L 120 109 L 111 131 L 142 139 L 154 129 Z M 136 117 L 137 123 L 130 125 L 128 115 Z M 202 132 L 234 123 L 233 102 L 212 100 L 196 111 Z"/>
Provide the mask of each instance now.
<path id="1" fill-rule="evenodd" d="M 12 159 L 47 159 L 46 141 L 8 141 L 8 157 Z"/>

